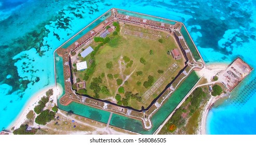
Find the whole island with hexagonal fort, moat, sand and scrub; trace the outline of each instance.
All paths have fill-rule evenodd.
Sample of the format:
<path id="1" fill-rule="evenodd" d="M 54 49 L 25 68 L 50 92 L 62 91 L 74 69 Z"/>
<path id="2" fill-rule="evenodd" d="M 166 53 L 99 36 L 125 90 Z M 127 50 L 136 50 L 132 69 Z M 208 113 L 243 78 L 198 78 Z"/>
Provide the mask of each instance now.
<path id="1" fill-rule="evenodd" d="M 44 92 L 48 99 L 43 93 L 33 102 L 39 115 L 31 105 L 23 113 L 27 118 L 31 114 L 33 125 L 19 122 L 4 132 L 17 133 L 20 126 L 32 134 L 40 124 L 50 129 L 60 125 L 61 115 L 65 124 L 76 123 L 71 123 L 74 128 L 103 126 L 103 134 L 205 134 L 209 109 L 253 69 L 240 57 L 230 65 L 206 65 L 183 23 L 117 8 L 53 55 L 55 88 L 50 95 Z M 53 112 L 44 109 L 49 98 Z M 50 119 L 40 120 L 41 114 Z M 57 114 L 57 122 L 51 121 Z"/>

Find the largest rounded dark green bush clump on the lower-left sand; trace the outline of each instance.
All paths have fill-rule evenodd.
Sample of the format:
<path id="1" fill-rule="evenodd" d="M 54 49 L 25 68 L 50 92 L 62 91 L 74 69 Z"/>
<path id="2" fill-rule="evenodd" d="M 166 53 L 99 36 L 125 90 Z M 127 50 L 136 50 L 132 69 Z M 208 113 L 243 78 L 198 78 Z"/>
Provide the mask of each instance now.
<path id="1" fill-rule="evenodd" d="M 55 112 L 50 111 L 49 109 L 41 112 L 36 118 L 35 123 L 45 125 L 47 122 L 50 122 L 55 118 Z"/>

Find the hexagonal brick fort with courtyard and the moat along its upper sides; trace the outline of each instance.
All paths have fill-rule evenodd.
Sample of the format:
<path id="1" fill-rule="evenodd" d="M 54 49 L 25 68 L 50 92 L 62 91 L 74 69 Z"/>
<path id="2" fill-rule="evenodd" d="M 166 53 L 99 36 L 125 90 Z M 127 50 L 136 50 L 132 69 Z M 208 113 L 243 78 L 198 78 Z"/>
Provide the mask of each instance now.
<path id="1" fill-rule="evenodd" d="M 57 54 L 63 59 L 61 105 L 75 101 L 125 115 L 144 129 L 152 128 L 151 117 L 185 78 L 205 65 L 182 23 L 114 8 Z"/>

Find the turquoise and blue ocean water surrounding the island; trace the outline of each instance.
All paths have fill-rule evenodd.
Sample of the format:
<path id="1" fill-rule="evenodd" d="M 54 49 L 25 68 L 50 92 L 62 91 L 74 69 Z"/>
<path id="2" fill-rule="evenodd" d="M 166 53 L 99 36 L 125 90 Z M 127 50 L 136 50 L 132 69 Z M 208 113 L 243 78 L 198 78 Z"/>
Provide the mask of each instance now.
<path id="1" fill-rule="evenodd" d="M 16 119 L 33 94 L 55 85 L 53 51 L 112 7 L 183 22 L 207 63 L 230 63 L 239 56 L 255 68 L 255 5 L 255 0 L 2 0 L 0 129 Z M 208 134 L 256 134 L 255 79 L 253 70 L 230 99 L 210 110 Z"/>

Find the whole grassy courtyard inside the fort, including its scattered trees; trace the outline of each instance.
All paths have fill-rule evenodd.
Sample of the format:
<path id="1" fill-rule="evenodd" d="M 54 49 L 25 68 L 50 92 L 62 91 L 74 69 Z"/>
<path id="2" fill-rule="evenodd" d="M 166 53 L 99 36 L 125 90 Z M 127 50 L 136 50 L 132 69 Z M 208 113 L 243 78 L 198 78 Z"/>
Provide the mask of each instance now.
<path id="1" fill-rule="evenodd" d="M 135 109 L 146 108 L 184 67 L 184 60 L 176 61 L 167 54 L 179 47 L 165 32 L 127 24 L 121 24 L 120 29 L 117 35 L 107 36 L 110 41 L 94 55 L 95 70 L 86 79 L 86 94 Z M 95 49 L 99 44 L 92 42 L 90 46 Z M 79 60 L 87 61 L 90 69 L 91 55 L 79 56 Z M 76 79 L 85 80 L 88 71 L 77 71 Z M 145 98 L 147 90 L 151 93 Z"/>

